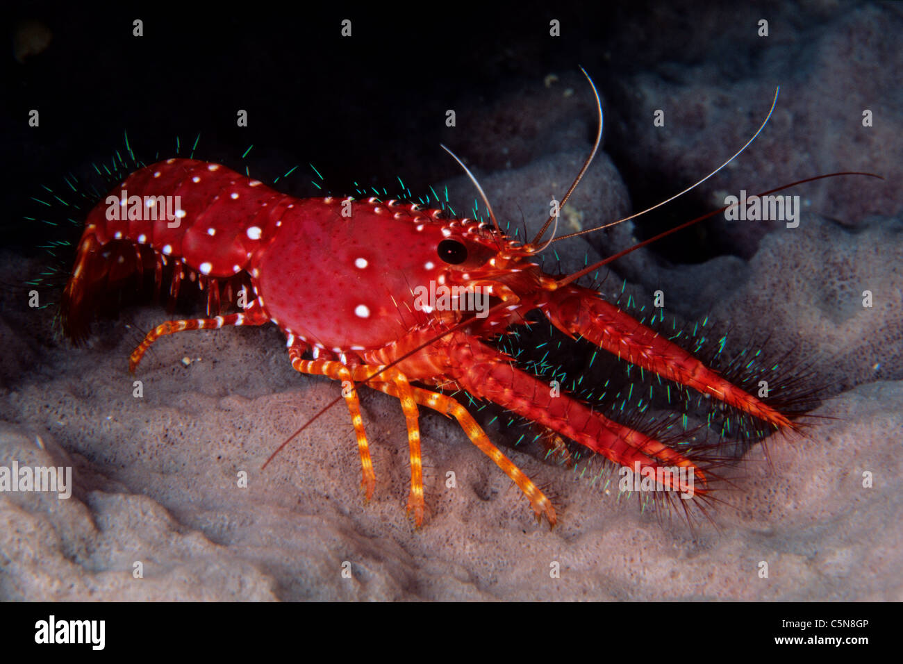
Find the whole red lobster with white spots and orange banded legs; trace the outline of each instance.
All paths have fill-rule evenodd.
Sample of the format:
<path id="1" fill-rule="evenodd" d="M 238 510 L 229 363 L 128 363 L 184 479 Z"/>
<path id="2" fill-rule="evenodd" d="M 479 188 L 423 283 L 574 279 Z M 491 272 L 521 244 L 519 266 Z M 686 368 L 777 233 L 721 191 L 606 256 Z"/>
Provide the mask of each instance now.
<path id="1" fill-rule="evenodd" d="M 562 206 L 599 146 L 598 93 L 596 98 L 599 136 Z M 401 201 L 297 199 L 225 166 L 191 159 L 142 168 L 120 189 L 88 214 L 63 294 L 61 317 L 70 337 L 84 338 L 103 295 L 135 274 L 153 270 L 157 292 L 165 284 L 172 299 L 184 279 L 198 281 L 207 291 L 208 317 L 157 326 L 132 352 L 130 368 L 135 370 L 164 334 L 275 323 L 285 333 L 294 369 L 343 381 L 368 499 L 376 476 L 355 386 L 366 384 L 398 398 L 410 445 L 407 510 L 417 525 L 424 518 L 418 406 L 455 417 L 470 441 L 524 492 L 536 518 L 545 514 L 550 525 L 556 520 L 550 500 L 489 441 L 468 411 L 454 398 L 422 386 L 466 390 L 614 463 L 656 472 L 659 490 L 709 491 L 705 473 L 692 459 L 574 397 L 554 395 L 548 384 L 484 342 L 525 323 L 532 310 L 571 338 L 580 336 L 771 426 L 791 426 L 786 416 L 599 293 L 573 283 L 598 266 L 564 278 L 545 274 L 534 258 L 548 245 L 540 246 L 539 240 L 553 218 L 533 242 L 522 244 L 498 229 L 488 202 L 494 227 Z M 172 219 L 163 214 L 170 201 L 166 197 L 177 201 Z M 111 214 L 116 207 L 121 214 Z M 160 213 L 148 214 L 155 210 Z M 489 294 L 493 306 L 480 317 L 457 307 L 418 304 L 415 286 L 431 282 L 457 288 L 459 294 Z M 247 303 L 239 299 L 243 293 Z M 217 315 L 223 302 L 243 307 L 240 313 Z M 692 472 L 694 485 L 659 472 L 667 467 Z"/>

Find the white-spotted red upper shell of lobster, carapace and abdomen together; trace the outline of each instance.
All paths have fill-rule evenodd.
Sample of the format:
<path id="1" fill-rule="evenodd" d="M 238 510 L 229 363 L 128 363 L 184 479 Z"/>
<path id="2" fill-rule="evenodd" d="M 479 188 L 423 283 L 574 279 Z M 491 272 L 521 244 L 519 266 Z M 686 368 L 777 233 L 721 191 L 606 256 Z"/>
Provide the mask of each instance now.
<path id="1" fill-rule="evenodd" d="M 122 219 L 110 220 L 110 203 L 101 201 L 88 215 L 82 250 L 89 236 L 98 248 L 125 240 L 204 276 L 247 272 L 254 295 L 284 332 L 332 351 L 381 348 L 438 317 L 456 318 L 418 310 L 414 288 L 446 282 L 450 266 L 436 253 L 445 238 L 466 242 L 474 259 L 493 250 L 481 246 L 476 222 L 442 220 L 439 210 L 376 199 L 297 199 L 190 159 L 132 173 L 111 192 L 116 201 L 126 195 L 178 197 L 172 205 L 178 223 L 128 219 L 126 205 Z M 96 265 L 96 271 L 116 267 L 99 258 Z"/>

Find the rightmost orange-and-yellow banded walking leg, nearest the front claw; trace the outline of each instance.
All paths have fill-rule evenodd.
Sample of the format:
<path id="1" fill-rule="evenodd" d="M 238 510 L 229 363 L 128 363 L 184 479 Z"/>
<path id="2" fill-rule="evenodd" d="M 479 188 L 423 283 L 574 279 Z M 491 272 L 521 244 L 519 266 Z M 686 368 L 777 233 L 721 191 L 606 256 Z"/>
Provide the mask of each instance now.
<path id="1" fill-rule="evenodd" d="M 371 380 L 368 385 L 371 388 L 386 392 L 392 397 L 398 397 L 396 386 L 388 382 L 377 382 L 376 379 Z M 533 481 L 522 472 L 517 465 L 502 454 L 501 451 L 489 440 L 486 432 L 477 424 L 476 420 L 470 416 L 467 409 L 459 404 L 452 397 L 448 397 L 438 392 L 433 392 L 424 388 L 411 388 L 414 394 L 414 400 L 421 406 L 433 408 L 433 410 L 442 413 L 444 416 L 453 416 L 458 420 L 458 424 L 470 438 L 470 442 L 475 444 L 483 454 L 489 456 L 492 461 L 501 468 L 502 472 L 511 478 L 511 482 L 517 484 L 517 488 L 524 492 L 530 506 L 536 515 L 536 520 L 545 518 L 549 521 L 549 526 L 554 526 L 557 519 L 555 518 L 555 510 L 552 501 L 545 497 L 545 494 L 539 490 Z"/>

